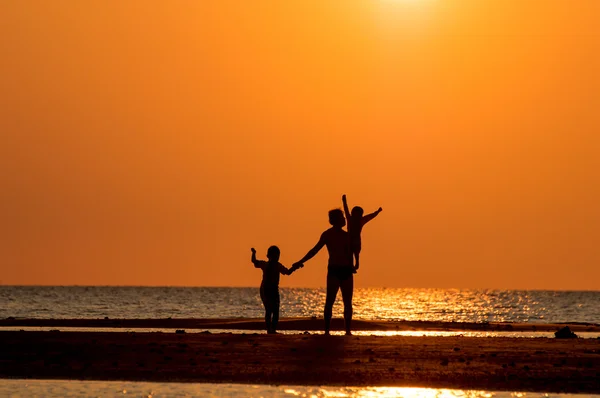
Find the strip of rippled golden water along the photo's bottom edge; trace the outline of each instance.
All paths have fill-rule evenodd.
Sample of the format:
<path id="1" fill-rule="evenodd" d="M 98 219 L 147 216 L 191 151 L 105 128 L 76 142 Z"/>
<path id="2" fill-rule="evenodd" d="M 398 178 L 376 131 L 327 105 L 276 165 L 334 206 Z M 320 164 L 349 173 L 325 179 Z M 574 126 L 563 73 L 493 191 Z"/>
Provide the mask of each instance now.
<path id="1" fill-rule="evenodd" d="M 3 397 L 362 397 L 362 398 L 587 398 L 597 395 L 542 394 L 433 388 L 299 387 L 244 384 L 182 384 L 125 381 L 0 380 Z"/>

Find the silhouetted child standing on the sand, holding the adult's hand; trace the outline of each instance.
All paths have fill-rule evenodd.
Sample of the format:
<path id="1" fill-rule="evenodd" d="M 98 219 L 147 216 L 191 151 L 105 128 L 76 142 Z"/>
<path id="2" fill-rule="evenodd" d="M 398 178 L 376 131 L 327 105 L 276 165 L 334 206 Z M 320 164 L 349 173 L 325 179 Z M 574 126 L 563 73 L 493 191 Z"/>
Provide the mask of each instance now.
<path id="1" fill-rule="evenodd" d="M 281 252 L 277 246 L 269 247 L 267 258 L 269 261 L 257 260 L 256 250 L 252 251 L 252 263 L 255 268 L 263 271 L 263 279 L 260 284 L 260 299 L 265 306 L 265 323 L 267 324 L 267 333 L 277 333 L 277 322 L 279 321 L 279 274 L 291 275 L 302 264 L 294 265 L 287 269 L 279 262 Z"/>

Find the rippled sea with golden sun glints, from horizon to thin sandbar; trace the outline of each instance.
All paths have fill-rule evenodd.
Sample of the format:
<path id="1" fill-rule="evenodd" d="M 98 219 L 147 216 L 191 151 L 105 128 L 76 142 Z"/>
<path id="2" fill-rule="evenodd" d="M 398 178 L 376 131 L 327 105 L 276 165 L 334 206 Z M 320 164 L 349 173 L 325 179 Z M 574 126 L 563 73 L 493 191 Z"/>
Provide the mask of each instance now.
<path id="1" fill-rule="evenodd" d="M 324 289 L 281 289 L 281 314 L 321 316 Z M 257 288 L 0 286 L 0 318 L 261 317 Z M 341 300 L 334 308 L 342 316 Z M 600 324 L 600 292 L 356 289 L 357 319 Z"/>

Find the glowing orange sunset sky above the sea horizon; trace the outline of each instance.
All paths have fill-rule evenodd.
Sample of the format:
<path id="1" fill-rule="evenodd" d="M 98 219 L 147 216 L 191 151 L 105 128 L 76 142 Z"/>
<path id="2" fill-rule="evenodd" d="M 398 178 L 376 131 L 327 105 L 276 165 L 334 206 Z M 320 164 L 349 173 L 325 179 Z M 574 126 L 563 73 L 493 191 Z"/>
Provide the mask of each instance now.
<path id="1" fill-rule="evenodd" d="M 600 289 L 597 0 L 0 4 L 0 284 Z M 326 253 L 282 279 L 324 286 Z"/>

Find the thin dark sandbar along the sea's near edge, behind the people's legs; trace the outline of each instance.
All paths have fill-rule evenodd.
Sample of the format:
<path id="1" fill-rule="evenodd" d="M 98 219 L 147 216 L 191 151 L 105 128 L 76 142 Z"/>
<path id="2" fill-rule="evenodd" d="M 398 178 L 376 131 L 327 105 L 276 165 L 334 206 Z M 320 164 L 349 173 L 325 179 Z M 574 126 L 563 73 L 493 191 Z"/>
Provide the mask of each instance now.
<path id="1" fill-rule="evenodd" d="M 514 331 L 514 332 L 555 332 L 568 325 L 577 332 L 600 333 L 600 325 L 593 323 L 476 323 L 438 321 L 365 321 L 354 320 L 352 329 L 356 331 Z M 85 328 L 173 328 L 173 329 L 235 329 L 263 330 L 264 320 L 259 318 L 224 319 L 0 319 L 0 327 L 85 327 Z M 322 331 L 320 318 L 283 318 L 279 330 Z M 344 330 L 343 321 L 334 319 L 332 330 Z"/>

